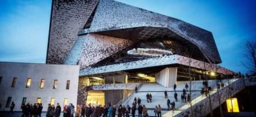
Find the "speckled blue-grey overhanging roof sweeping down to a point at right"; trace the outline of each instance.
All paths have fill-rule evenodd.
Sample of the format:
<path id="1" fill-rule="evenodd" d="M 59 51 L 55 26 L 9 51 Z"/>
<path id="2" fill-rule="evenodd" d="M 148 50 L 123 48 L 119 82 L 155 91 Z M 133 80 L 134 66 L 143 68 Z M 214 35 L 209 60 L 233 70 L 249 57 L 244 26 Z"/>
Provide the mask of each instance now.
<path id="1" fill-rule="evenodd" d="M 212 33 L 179 19 L 112 0 L 99 1 L 93 20 L 79 34 L 98 33 L 126 39 L 171 36 L 192 43 L 212 63 L 221 58 Z"/>

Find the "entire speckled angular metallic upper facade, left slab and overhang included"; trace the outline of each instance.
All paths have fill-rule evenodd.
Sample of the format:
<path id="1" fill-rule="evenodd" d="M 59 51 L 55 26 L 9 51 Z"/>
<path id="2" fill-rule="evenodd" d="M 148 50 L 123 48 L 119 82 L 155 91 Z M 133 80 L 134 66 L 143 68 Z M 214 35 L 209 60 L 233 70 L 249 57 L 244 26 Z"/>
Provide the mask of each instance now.
<path id="1" fill-rule="evenodd" d="M 143 41 L 163 38 L 181 42 L 208 63 L 221 63 L 211 32 L 112 0 L 54 0 L 47 63 L 80 65 L 82 70 Z"/>

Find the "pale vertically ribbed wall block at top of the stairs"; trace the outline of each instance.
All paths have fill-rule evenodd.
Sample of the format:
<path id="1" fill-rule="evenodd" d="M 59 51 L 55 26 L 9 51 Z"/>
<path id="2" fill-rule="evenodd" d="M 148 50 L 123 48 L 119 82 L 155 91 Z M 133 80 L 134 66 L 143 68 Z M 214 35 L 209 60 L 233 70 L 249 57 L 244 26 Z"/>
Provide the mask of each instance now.
<path id="1" fill-rule="evenodd" d="M 177 81 L 177 67 L 170 67 L 161 70 L 155 75 L 156 82 L 164 87 L 173 87 Z"/>

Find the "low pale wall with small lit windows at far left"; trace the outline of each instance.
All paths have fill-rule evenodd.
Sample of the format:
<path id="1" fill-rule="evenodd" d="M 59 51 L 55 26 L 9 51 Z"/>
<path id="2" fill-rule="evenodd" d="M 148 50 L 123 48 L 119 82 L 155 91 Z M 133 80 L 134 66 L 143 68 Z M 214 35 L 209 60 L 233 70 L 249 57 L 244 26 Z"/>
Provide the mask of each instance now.
<path id="1" fill-rule="evenodd" d="M 8 111 L 6 101 L 8 96 L 12 97 L 11 101 L 15 103 L 15 111 L 21 111 L 21 102 L 26 97 L 26 103 L 36 103 L 37 98 L 42 98 L 46 111 L 47 104 L 51 98 L 55 98 L 55 105 L 60 103 L 63 107 L 64 98 L 68 98 L 68 103 L 76 105 L 77 101 L 77 84 L 78 84 L 79 66 L 77 65 L 48 65 L 33 63 L 0 63 L 0 111 Z M 11 87 L 12 78 L 17 77 L 15 87 Z M 32 82 L 30 88 L 26 88 L 27 78 L 30 77 Z M 40 89 L 41 79 L 44 78 L 44 88 Z M 57 89 L 53 89 L 53 81 L 57 79 Z M 70 88 L 66 89 L 66 81 L 70 80 Z"/>

